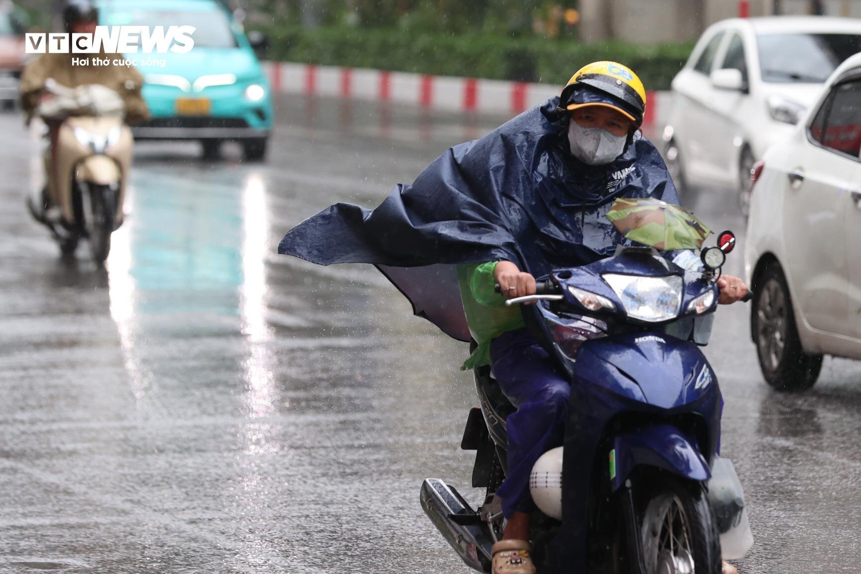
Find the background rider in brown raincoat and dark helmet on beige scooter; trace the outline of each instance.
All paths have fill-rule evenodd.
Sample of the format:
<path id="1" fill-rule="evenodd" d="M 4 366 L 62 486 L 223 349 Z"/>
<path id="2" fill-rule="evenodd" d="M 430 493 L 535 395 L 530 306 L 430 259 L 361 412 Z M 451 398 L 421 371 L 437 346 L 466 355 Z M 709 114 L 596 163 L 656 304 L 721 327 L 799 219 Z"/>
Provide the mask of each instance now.
<path id="1" fill-rule="evenodd" d="M 62 10 L 64 32 L 68 34 L 93 34 L 98 24 L 98 10 L 90 0 L 68 0 Z M 108 65 L 93 65 L 93 58 L 110 59 Z M 72 58 L 87 59 L 88 65 L 72 65 Z M 114 65 L 116 54 L 99 53 L 51 53 L 46 52 L 30 62 L 22 71 L 20 91 L 21 104 L 27 114 L 27 124 L 33 119 L 41 102 L 53 97 L 46 91 L 48 78 L 67 88 L 100 84 L 114 90 L 125 104 L 125 122 L 139 123 L 150 117 L 140 90 L 144 77 L 131 66 Z M 51 140 L 55 135 L 56 126 L 49 126 Z M 48 174 L 50 178 L 50 174 Z M 47 188 L 51 188 L 48 186 Z M 34 213 L 44 213 L 55 204 L 49 196 L 42 192 L 41 201 L 32 201 L 36 207 Z"/>

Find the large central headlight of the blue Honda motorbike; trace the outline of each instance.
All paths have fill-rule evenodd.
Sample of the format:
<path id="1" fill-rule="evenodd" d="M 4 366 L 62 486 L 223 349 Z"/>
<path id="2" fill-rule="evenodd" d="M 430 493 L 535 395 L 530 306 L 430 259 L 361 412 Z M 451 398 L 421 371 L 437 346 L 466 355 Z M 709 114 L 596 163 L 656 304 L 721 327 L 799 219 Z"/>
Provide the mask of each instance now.
<path id="1" fill-rule="evenodd" d="M 682 278 L 604 275 L 630 318 L 660 323 L 678 317 L 682 307 Z"/>

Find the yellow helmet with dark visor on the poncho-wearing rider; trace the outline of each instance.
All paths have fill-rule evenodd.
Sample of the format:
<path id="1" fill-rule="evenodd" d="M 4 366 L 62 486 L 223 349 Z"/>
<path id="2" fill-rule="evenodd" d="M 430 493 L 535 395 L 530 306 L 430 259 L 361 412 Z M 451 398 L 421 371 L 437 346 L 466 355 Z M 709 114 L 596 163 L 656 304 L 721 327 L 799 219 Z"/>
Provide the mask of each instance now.
<path id="1" fill-rule="evenodd" d="M 562 89 L 561 108 L 604 106 L 622 112 L 636 127 L 646 113 L 646 88 L 628 66 L 617 62 L 592 62 L 580 68 Z"/>

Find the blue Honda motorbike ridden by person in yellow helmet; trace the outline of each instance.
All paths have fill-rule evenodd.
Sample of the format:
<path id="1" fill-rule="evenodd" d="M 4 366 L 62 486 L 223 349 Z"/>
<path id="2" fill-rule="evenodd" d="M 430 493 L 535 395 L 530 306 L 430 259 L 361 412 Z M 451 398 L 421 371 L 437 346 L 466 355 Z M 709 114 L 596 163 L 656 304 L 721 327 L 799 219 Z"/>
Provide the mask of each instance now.
<path id="1" fill-rule="evenodd" d="M 527 329 L 570 377 L 561 468 L 561 520 L 536 510 L 533 560 L 540 573 L 718 574 L 721 546 L 709 505 L 720 448 L 722 397 L 699 346 L 708 342 L 717 278 L 734 237 L 703 249 L 690 271 L 650 248 L 560 269 L 523 306 Z M 600 337 L 583 341 L 582 321 Z M 579 325 L 579 326 L 575 326 Z M 491 571 L 504 519 L 495 491 L 505 479 L 505 418 L 514 408 L 489 367 L 475 371 L 480 407 L 461 448 L 476 451 L 472 509 L 454 487 L 429 478 L 425 513 L 463 561 Z"/>

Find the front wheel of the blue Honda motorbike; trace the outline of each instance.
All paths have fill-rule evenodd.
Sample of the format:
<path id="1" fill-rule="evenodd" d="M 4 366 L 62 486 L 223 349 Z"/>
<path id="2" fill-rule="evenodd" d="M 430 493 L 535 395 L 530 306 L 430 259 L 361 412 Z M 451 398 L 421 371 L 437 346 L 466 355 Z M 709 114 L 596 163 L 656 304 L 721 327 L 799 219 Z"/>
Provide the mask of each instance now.
<path id="1" fill-rule="evenodd" d="M 646 574 L 721 574 L 721 541 L 705 488 L 662 479 L 641 513 Z"/>

